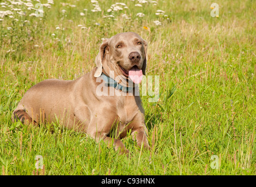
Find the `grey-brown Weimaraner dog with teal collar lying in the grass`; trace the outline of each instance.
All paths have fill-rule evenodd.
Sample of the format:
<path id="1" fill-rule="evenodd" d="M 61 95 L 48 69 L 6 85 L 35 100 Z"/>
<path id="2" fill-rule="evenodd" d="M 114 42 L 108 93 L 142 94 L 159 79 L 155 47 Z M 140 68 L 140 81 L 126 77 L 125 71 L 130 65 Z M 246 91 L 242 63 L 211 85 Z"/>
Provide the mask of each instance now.
<path id="1" fill-rule="evenodd" d="M 73 81 L 46 79 L 32 86 L 14 110 L 13 121 L 40 124 L 57 119 L 120 154 L 129 153 L 121 138 L 131 131 L 139 147 L 149 148 L 144 109 L 134 89 L 145 75 L 146 49 L 147 42 L 133 32 L 104 39 L 97 67 Z"/>

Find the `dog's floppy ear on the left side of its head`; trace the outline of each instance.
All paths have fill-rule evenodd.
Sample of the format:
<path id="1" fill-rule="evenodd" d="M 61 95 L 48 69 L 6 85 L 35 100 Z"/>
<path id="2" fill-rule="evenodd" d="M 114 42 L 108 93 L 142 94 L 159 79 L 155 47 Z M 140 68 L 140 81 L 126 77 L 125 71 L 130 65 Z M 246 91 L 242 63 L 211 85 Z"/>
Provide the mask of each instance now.
<path id="1" fill-rule="evenodd" d="M 108 53 L 108 51 L 109 51 L 108 40 L 109 39 L 103 40 L 103 43 L 101 43 L 101 45 L 100 45 L 100 51 L 98 52 L 98 55 L 95 58 L 95 64 L 97 66 L 97 70 L 94 73 L 94 77 L 100 77 L 100 75 L 102 74 L 103 59 L 105 57 L 105 53 Z"/>

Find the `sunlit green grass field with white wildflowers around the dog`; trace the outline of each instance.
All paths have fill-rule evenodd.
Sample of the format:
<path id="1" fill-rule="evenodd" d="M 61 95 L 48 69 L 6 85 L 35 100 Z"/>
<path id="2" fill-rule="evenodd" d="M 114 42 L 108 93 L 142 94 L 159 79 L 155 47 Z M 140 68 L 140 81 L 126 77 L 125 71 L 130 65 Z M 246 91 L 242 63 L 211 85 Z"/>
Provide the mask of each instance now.
<path id="1" fill-rule="evenodd" d="M 209 0 L 40 1 L 42 17 L 39 1 L 0 1 L 0 174 L 256 174 L 256 1 L 214 1 L 219 18 Z M 160 78 L 158 102 L 142 96 L 151 151 L 128 136 L 127 158 L 58 124 L 12 123 L 32 85 L 80 77 L 101 39 L 128 31 L 148 41 L 146 74 Z"/>

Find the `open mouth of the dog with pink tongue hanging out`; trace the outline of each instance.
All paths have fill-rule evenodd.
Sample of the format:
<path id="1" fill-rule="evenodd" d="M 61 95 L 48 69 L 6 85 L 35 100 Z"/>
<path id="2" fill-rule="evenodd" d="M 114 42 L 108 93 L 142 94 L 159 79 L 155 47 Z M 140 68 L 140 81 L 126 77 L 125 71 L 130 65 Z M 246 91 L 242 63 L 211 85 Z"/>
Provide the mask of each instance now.
<path id="1" fill-rule="evenodd" d="M 120 70 L 121 70 L 122 74 L 125 77 L 130 78 L 132 80 L 132 82 L 134 82 L 135 84 L 141 83 L 143 74 L 142 74 L 142 70 L 140 70 L 138 68 L 138 66 L 134 65 L 129 70 L 126 70 L 121 65 L 119 65 L 119 67 L 120 67 Z"/>

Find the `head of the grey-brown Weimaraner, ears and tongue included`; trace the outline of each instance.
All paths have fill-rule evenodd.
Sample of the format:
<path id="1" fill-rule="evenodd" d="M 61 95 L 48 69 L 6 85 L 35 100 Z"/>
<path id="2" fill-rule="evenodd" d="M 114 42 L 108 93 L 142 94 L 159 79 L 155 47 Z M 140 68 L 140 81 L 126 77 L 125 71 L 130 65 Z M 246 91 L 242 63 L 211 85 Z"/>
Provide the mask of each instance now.
<path id="1" fill-rule="evenodd" d="M 125 84 L 131 79 L 138 84 L 146 71 L 146 48 L 147 42 L 133 32 L 119 33 L 104 39 L 95 59 L 97 70 L 94 77 L 100 77 L 104 69 L 113 79 L 119 77 L 123 83 L 126 81 Z"/>

